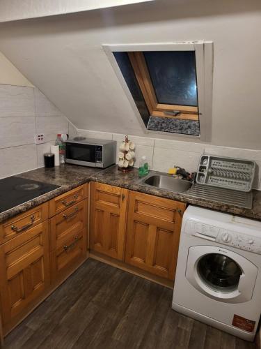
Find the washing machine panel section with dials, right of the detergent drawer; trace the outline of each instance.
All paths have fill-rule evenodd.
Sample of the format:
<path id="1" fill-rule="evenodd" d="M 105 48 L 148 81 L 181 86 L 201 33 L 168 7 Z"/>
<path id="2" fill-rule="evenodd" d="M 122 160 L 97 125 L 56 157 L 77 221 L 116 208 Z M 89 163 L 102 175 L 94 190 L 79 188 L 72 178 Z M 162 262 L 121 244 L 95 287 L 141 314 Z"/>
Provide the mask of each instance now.
<path id="1" fill-rule="evenodd" d="M 244 235 L 232 230 L 221 229 L 216 242 L 226 244 L 241 250 L 261 254 L 261 238 Z"/>

